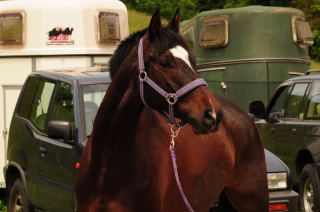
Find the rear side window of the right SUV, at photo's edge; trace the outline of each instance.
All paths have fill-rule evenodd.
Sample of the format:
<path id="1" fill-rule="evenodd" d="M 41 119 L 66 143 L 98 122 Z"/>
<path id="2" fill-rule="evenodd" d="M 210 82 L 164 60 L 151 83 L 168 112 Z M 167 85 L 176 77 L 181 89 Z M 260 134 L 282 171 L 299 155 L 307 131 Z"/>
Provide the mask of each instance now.
<path id="1" fill-rule="evenodd" d="M 320 118 L 320 81 L 315 81 L 308 96 L 307 119 Z"/>

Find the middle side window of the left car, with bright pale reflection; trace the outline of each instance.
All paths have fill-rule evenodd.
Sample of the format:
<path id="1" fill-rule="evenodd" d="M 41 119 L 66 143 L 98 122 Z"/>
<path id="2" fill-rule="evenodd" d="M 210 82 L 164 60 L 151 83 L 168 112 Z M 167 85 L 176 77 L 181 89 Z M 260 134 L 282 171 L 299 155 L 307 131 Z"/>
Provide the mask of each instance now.
<path id="1" fill-rule="evenodd" d="M 31 107 L 30 120 L 40 130 L 45 130 L 48 109 L 55 83 L 41 79 Z"/>

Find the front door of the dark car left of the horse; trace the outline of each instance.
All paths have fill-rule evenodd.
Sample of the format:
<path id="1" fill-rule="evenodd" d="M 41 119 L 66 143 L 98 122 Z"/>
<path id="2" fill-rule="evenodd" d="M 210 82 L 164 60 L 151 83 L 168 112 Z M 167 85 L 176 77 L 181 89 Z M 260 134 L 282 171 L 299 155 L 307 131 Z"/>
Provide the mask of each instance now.
<path id="1" fill-rule="evenodd" d="M 75 114 L 73 87 L 60 82 L 52 100 L 49 121 L 68 121 L 72 124 L 75 134 Z M 73 136 L 75 139 L 75 136 Z M 74 141 L 73 139 L 73 141 Z M 80 154 L 73 144 L 62 140 L 44 138 L 40 141 L 39 172 L 46 188 L 40 192 L 41 207 L 49 211 L 74 211 L 74 176 L 75 164 Z"/>

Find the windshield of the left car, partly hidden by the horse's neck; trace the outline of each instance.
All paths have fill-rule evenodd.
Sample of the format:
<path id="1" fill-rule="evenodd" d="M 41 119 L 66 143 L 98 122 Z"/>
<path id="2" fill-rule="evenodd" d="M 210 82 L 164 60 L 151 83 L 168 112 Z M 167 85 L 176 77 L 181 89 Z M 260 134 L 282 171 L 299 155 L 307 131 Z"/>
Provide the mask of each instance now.
<path id="1" fill-rule="evenodd" d="M 93 121 L 109 84 L 84 85 L 83 102 L 87 136 L 91 134 Z"/>

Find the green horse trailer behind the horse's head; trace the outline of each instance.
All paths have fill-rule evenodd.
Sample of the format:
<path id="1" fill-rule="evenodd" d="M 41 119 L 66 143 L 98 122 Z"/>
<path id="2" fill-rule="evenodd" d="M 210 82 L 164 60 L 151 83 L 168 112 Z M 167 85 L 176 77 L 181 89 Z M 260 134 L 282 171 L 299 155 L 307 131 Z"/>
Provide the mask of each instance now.
<path id="1" fill-rule="evenodd" d="M 310 66 L 313 37 L 297 9 L 249 6 L 205 11 L 181 23 L 210 89 L 247 110 L 265 104 L 275 88 Z"/>

